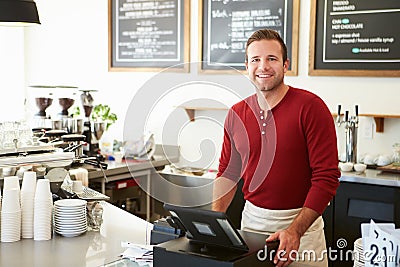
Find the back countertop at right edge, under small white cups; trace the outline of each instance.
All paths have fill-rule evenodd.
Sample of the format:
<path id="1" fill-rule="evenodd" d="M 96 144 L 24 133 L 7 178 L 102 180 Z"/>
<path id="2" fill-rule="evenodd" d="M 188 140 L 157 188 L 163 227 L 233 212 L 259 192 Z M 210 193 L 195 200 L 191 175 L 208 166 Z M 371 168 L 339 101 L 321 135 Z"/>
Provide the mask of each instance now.
<path id="1" fill-rule="evenodd" d="M 342 176 L 339 180 L 349 183 L 400 187 L 400 173 L 382 172 L 374 169 L 367 169 L 362 174 L 356 174 L 356 172 L 342 172 Z"/>

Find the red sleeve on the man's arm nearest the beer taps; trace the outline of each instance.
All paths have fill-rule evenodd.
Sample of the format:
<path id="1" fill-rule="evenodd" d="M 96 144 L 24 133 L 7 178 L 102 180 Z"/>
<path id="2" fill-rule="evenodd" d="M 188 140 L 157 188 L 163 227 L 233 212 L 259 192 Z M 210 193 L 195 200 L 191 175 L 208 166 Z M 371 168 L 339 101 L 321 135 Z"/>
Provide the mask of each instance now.
<path id="1" fill-rule="evenodd" d="M 325 103 L 315 97 L 305 108 L 303 127 L 312 170 L 311 188 L 304 206 L 322 214 L 339 186 L 337 139 L 334 121 Z"/>

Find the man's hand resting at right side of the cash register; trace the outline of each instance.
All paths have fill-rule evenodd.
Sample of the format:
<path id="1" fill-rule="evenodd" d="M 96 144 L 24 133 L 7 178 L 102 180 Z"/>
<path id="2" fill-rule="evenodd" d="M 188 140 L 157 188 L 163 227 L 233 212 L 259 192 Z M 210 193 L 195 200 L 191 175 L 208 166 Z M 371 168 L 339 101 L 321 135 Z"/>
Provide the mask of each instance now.
<path id="1" fill-rule="evenodd" d="M 293 230 L 285 229 L 269 236 L 266 242 L 279 240 L 279 247 L 274 258 L 276 266 L 288 266 L 296 259 L 300 246 L 300 235 Z"/>

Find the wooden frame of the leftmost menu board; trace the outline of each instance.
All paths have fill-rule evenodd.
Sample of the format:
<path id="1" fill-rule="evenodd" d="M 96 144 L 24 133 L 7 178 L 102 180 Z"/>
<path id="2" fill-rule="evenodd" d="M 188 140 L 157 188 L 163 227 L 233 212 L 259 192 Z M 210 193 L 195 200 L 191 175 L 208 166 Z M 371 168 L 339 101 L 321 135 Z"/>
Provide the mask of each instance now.
<path id="1" fill-rule="evenodd" d="M 179 32 L 177 34 L 177 39 L 182 40 L 182 45 L 180 47 L 180 59 L 179 62 L 172 62 L 170 66 L 165 66 L 164 63 L 155 59 L 146 59 L 147 64 L 141 62 L 133 63 L 128 62 L 126 64 L 119 63 L 118 66 L 113 64 L 116 58 L 116 43 L 113 40 L 114 32 L 118 31 L 116 29 L 115 23 L 115 3 L 117 0 L 108 0 L 108 70 L 111 72 L 183 72 L 188 73 L 189 60 L 190 60 L 190 0 L 173 0 L 176 4 L 180 4 L 183 11 L 183 18 L 180 18 Z M 179 35 L 179 36 L 178 36 Z M 178 42 L 178 41 L 177 41 Z M 144 60 L 143 60 L 144 61 Z"/>

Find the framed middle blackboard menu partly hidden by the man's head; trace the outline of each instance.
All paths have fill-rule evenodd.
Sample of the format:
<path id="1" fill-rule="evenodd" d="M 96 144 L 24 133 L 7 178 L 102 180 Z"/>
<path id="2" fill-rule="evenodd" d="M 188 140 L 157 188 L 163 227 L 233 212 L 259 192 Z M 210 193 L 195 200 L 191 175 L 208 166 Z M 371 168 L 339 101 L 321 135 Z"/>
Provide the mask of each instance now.
<path id="1" fill-rule="evenodd" d="M 244 71 L 247 39 L 256 30 L 270 28 L 280 33 L 288 48 L 288 75 L 297 75 L 298 0 L 201 2 L 201 70 Z"/>

